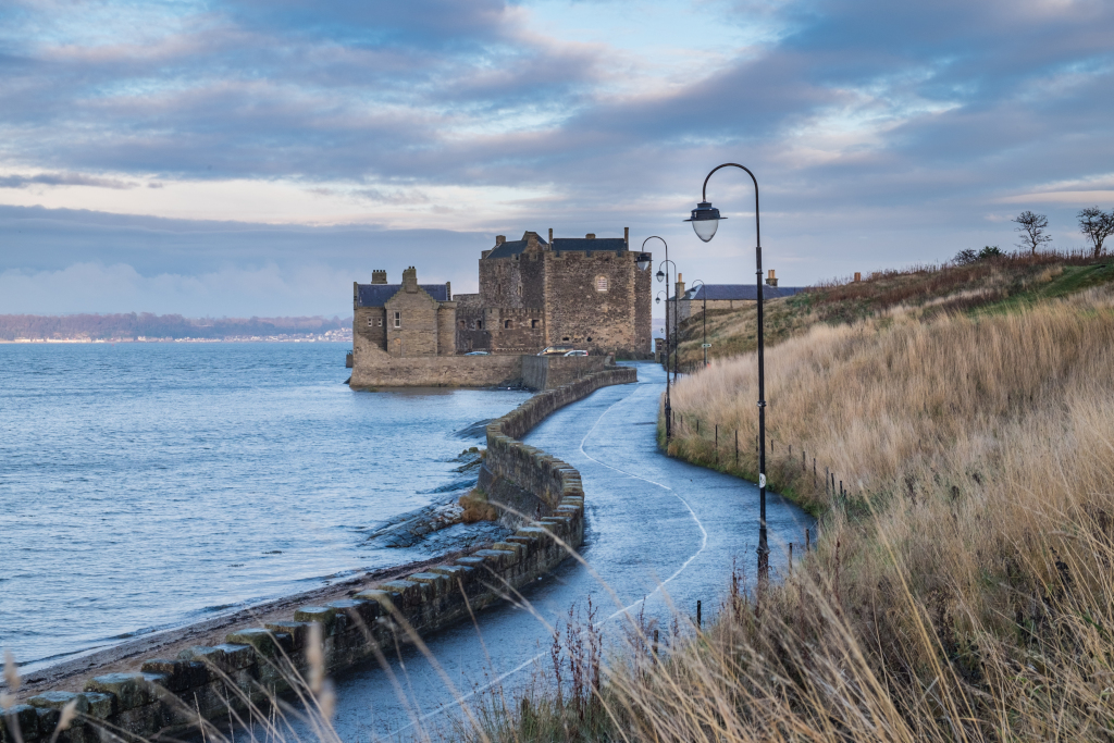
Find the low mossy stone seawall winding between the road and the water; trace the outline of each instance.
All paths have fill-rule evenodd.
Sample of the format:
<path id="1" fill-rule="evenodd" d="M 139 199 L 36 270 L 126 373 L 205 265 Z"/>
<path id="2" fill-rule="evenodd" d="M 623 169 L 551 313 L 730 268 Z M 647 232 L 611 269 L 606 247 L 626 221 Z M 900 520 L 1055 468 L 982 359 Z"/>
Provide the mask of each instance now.
<path id="1" fill-rule="evenodd" d="M 565 462 L 518 439 L 549 413 L 610 384 L 637 381 L 634 369 L 592 374 L 543 392 L 488 426 L 486 467 L 490 481 L 529 491 L 548 514 L 506 541 L 449 565 L 391 580 L 350 599 L 303 606 L 289 620 L 232 632 L 225 643 L 195 646 L 170 658 L 148 658 L 138 671 L 89 678 L 85 691 L 46 692 L 17 704 L 0 723 L 0 743 L 50 740 L 63 706 L 76 704 L 77 722 L 58 737 L 66 743 L 102 743 L 176 736 L 195 730 L 198 716 L 228 720 L 232 710 L 291 688 L 309 678 L 311 627 L 323 639 L 326 671 L 335 672 L 411 642 L 504 598 L 566 557 L 584 538 L 580 475 Z"/>

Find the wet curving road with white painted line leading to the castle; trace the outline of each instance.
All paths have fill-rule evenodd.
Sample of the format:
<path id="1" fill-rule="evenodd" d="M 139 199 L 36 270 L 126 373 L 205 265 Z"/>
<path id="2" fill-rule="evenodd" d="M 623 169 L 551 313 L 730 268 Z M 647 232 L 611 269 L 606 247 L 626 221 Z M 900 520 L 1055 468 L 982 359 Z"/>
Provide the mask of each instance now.
<path id="1" fill-rule="evenodd" d="M 335 678 L 341 740 L 409 736 L 416 725 L 443 726 L 446 711 L 459 708 L 455 697 L 473 700 L 496 683 L 527 683 L 538 664 L 548 662 L 551 625 L 573 604 L 583 607 L 589 595 L 606 633 L 616 629 L 624 609 L 637 614 L 643 605 L 647 617 L 667 622 L 670 603 L 695 615 L 701 599 L 710 617 L 735 559 L 753 583 L 758 487 L 663 456 L 654 434 L 665 375 L 657 365 L 639 364 L 638 378 L 638 384 L 604 388 L 557 411 L 526 437 L 580 470 L 587 509 L 582 555 L 588 567 L 567 560 L 524 592 L 529 606 L 481 612 L 479 633 L 465 624 L 427 637 L 440 668 L 407 647 L 391 673 L 370 663 Z M 771 567 L 778 570 L 784 566 L 782 546 L 800 545 L 813 521 L 776 495 L 768 495 L 766 506 Z"/>

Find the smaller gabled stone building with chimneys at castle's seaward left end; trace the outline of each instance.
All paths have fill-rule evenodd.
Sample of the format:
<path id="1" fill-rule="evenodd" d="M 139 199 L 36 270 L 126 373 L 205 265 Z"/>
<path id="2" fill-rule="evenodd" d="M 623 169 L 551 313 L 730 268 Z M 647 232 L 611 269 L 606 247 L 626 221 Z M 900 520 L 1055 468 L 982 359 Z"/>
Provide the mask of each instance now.
<path id="1" fill-rule="evenodd" d="M 388 284 L 385 271 L 371 272 L 370 284 L 353 283 L 352 310 L 356 364 L 373 351 L 395 358 L 456 353 L 452 286 L 419 284 L 413 266 L 402 272 L 401 284 Z"/>

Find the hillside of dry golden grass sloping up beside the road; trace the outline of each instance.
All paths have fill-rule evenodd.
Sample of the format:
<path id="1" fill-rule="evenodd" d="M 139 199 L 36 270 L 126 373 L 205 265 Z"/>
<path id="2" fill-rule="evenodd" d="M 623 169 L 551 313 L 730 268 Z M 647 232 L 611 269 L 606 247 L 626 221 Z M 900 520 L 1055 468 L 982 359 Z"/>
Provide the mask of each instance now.
<path id="1" fill-rule="evenodd" d="M 1014 260 L 779 301 L 768 471 L 818 548 L 750 597 L 724 576 L 717 620 L 681 619 L 667 657 L 633 627 L 598 685 L 494 701 L 466 736 L 1114 740 L 1111 278 Z M 721 353 L 746 349 L 746 313 L 716 321 Z M 755 384 L 753 353 L 683 379 L 671 454 L 752 477 Z"/>

